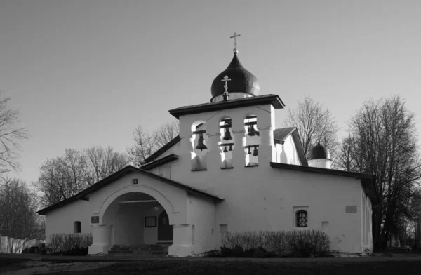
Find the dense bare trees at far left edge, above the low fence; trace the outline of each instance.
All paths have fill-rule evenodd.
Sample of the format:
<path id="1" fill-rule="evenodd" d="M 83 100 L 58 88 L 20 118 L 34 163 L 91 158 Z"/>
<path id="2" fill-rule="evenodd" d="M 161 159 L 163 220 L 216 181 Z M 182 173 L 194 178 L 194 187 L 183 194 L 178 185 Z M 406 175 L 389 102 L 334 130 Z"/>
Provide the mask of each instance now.
<path id="1" fill-rule="evenodd" d="M 3 180 L 0 187 L 0 234 L 13 238 L 44 238 L 44 220 L 36 214 L 36 200 L 25 182 Z"/>

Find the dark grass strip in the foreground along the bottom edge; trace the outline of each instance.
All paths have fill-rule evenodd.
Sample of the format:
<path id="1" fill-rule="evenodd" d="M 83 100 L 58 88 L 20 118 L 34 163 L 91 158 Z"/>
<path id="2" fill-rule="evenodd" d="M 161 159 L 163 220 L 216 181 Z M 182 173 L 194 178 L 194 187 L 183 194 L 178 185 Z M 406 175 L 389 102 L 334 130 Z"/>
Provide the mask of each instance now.
<path id="1" fill-rule="evenodd" d="M 48 273 L 74 274 L 72 271 Z M 78 275 L 96 274 L 349 274 L 401 275 L 421 274 L 420 260 L 361 261 L 320 260 L 293 262 L 259 261 L 145 261 L 113 264 L 100 269 L 77 272 Z"/>

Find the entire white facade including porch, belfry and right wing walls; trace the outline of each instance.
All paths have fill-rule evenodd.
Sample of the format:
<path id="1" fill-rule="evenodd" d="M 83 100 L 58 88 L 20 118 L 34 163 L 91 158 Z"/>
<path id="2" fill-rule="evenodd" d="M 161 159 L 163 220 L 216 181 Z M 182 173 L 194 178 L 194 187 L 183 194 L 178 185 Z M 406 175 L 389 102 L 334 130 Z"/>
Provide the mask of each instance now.
<path id="1" fill-rule="evenodd" d="M 250 114 L 257 116 L 258 136 L 247 135 L 244 121 Z M 218 146 L 226 142 L 220 121 L 227 118 L 233 137 L 227 142 L 234 147 L 224 153 Z M 166 240 L 172 241 L 168 254 L 179 257 L 220 248 L 226 230 L 315 229 L 328 233 L 332 249 L 360 253 L 372 248 L 371 202 L 361 179 L 290 169 L 304 167 L 299 147 L 291 135 L 275 145 L 274 124 L 269 104 L 180 116 L 181 141 L 156 158 L 177 154 L 178 159 L 149 171 L 162 178 L 128 168 L 122 177 L 88 194 L 88 201 L 48 211 L 46 236 L 72 233 L 74 222 L 80 221 L 82 233 L 93 233 L 90 254 L 107 253 L 114 244 L 159 243 L 159 227 L 146 227 L 145 217 L 159 217 L 165 210 L 173 227 L 172 239 Z M 198 135 L 192 132 L 198 129 L 206 130 L 208 149 L 202 152 L 194 149 Z M 246 154 L 246 145 L 259 145 L 258 156 Z M 189 192 L 163 177 L 215 197 Z M 298 210 L 307 211 L 307 227 L 297 227 Z M 99 217 L 98 223 L 91 223 L 92 216 Z"/>

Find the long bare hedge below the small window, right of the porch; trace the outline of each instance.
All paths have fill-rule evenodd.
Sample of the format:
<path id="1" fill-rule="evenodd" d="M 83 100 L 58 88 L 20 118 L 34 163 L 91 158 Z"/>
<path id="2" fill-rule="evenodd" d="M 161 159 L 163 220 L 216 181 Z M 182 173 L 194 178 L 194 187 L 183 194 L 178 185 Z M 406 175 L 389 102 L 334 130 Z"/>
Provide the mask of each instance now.
<path id="1" fill-rule="evenodd" d="M 243 231 L 222 236 L 225 257 L 323 257 L 328 255 L 328 234 L 305 231 Z"/>

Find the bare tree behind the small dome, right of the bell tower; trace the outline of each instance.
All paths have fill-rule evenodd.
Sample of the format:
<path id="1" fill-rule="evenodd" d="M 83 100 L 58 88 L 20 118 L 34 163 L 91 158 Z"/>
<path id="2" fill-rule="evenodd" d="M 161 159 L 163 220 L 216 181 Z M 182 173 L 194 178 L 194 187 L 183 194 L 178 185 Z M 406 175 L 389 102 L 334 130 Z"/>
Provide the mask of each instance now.
<path id="1" fill-rule="evenodd" d="M 314 102 L 309 96 L 302 102 L 298 101 L 298 107 L 288 110 L 283 126 L 297 127 L 306 156 L 320 140 L 321 145 L 329 149 L 333 162 L 335 161 L 339 148 L 337 133 L 340 128 L 330 110 L 323 108 L 319 102 Z"/>

